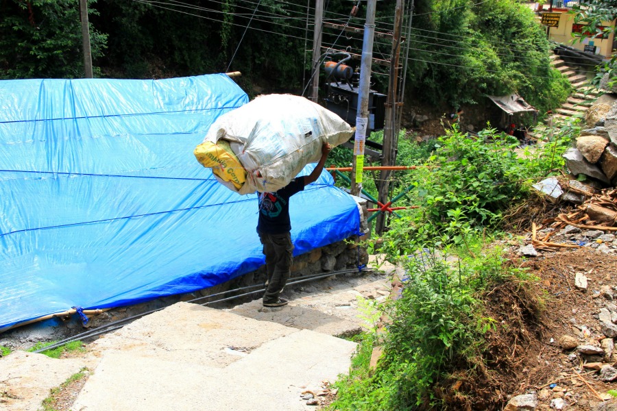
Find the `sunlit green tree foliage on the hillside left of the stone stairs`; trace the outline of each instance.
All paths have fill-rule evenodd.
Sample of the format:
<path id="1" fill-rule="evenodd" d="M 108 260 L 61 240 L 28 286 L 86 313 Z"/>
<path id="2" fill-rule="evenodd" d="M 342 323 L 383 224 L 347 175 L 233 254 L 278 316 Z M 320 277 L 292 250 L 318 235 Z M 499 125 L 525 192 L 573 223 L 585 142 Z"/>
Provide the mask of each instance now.
<path id="1" fill-rule="evenodd" d="M 415 64 L 412 84 L 423 99 L 455 107 L 518 92 L 545 110 L 567 96 L 568 84 L 551 69 L 548 40 L 527 5 L 433 1 L 432 11 L 419 17 L 411 41 L 421 44 L 422 64 Z"/>

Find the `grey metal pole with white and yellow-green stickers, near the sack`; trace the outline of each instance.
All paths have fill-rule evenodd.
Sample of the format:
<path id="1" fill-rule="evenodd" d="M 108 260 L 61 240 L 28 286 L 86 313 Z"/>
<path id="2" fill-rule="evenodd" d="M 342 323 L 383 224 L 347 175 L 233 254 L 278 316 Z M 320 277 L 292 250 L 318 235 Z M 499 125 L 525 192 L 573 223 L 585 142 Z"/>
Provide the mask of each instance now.
<path id="1" fill-rule="evenodd" d="M 362 60 L 360 64 L 360 85 L 358 111 L 356 114 L 356 135 L 354 136 L 354 162 L 352 165 L 352 195 L 359 195 L 362 190 L 362 169 L 364 168 L 364 142 L 368 127 L 368 97 L 371 86 L 371 63 L 373 60 L 373 36 L 375 33 L 375 11 L 377 0 L 368 0 Z"/>

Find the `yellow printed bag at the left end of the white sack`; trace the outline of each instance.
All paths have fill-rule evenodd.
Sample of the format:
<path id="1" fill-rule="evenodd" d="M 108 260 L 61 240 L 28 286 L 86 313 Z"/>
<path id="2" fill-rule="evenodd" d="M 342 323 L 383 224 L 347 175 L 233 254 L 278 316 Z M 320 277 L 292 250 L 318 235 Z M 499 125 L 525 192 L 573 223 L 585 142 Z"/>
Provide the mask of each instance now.
<path id="1" fill-rule="evenodd" d="M 227 140 L 218 140 L 216 143 L 204 141 L 195 147 L 193 154 L 199 164 L 212 169 L 224 182 L 233 184 L 237 190 L 242 188 L 246 181 L 246 171 Z"/>

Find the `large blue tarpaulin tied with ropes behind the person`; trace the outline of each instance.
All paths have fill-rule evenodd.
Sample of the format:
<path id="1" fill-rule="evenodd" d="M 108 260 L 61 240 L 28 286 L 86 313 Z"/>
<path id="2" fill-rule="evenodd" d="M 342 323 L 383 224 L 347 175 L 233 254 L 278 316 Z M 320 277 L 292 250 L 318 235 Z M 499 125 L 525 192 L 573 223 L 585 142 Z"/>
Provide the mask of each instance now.
<path id="1" fill-rule="evenodd" d="M 0 330 L 263 264 L 257 196 L 228 190 L 193 156 L 247 101 L 226 75 L 0 81 Z M 324 172 L 293 197 L 295 255 L 357 233 L 356 203 L 332 184 Z"/>

